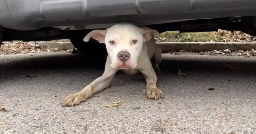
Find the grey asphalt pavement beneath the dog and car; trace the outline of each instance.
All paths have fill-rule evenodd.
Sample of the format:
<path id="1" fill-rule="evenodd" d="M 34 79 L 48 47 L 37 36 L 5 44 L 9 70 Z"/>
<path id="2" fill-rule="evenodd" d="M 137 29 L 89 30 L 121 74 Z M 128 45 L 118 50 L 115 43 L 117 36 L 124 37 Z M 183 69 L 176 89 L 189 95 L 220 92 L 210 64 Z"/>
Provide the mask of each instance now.
<path id="1" fill-rule="evenodd" d="M 61 107 L 65 96 L 101 76 L 105 57 L 0 55 L 0 107 L 10 110 L 0 112 L 0 134 L 256 133 L 256 58 L 163 58 L 157 83 L 161 100 L 142 93 L 143 76 L 118 73 L 108 89 L 78 106 Z M 179 76 L 179 68 L 188 77 Z M 121 105 L 104 106 L 115 101 Z"/>

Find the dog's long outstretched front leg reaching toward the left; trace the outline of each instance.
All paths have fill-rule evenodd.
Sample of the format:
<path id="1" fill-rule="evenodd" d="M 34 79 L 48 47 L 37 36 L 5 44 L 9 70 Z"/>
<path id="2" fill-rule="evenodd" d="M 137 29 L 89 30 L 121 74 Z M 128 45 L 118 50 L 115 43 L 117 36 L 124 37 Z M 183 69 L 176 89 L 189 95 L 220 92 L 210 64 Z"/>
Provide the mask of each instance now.
<path id="1" fill-rule="evenodd" d="M 110 66 L 111 59 L 108 56 L 107 61 L 105 64 L 105 70 L 102 76 L 95 79 L 92 83 L 87 85 L 83 90 L 80 92 L 67 96 L 62 101 L 62 106 L 74 106 L 78 105 L 83 101 L 86 101 L 91 95 L 100 92 L 101 90 L 107 88 L 114 78 L 114 75 L 117 73 L 117 70 L 113 70 Z"/>

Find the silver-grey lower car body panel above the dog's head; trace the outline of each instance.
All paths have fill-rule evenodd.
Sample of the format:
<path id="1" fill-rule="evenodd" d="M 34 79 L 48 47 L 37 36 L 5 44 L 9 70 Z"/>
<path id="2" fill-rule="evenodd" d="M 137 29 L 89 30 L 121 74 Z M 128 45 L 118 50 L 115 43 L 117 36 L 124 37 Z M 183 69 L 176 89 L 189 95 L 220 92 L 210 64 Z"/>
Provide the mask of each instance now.
<path id="1" fill-rule="evenodd" d="M 256 16 L 256 0 L 0 0 L 0 25 L 15 30 L 107 28 Z"/>

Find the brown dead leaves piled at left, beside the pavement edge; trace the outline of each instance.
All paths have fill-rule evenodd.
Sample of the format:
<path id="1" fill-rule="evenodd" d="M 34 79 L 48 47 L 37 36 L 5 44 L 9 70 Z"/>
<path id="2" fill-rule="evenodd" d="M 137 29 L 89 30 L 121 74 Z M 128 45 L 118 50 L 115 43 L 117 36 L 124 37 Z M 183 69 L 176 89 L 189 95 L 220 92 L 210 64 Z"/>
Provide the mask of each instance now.
<path id="1" fill-rule="evenodd" d="M 59 48 L 49 48 L 42 45 L 37 45 L 36 42 L 23 42 L 23 41 L 11 41 L 3 42 L 0 48 L 0 54 L 9 55 L 9 54 L 26 54 L 26 53 L 38 53 L 43 51 L 65 51 L 71 52 L 72 49 L 59 49 Z"/>

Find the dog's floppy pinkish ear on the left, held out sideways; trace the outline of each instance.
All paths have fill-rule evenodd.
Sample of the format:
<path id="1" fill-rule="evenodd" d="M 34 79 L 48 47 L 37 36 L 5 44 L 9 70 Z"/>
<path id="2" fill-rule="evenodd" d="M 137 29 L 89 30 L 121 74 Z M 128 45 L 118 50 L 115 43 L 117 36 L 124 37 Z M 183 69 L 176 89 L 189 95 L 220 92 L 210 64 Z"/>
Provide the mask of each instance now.
<path id="1" fill-rule="evenodd" d="M 105 43 L 106 32 L 106 30 L 93 30 L 83 38 L 83 41 L 88 42 L 89 39 L 92 37 L 100 43 Z"/>

